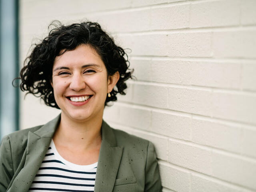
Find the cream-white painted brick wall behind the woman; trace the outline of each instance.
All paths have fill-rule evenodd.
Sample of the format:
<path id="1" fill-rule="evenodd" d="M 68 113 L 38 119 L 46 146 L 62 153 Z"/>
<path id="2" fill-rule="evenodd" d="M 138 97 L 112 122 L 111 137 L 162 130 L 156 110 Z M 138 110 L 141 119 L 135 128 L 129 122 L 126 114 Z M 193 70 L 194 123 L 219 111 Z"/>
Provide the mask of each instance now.
<path id="1" fill-rule="evenodd" d="M 106 107 L 152 141 L 163 192 L 256 191 L 256 0 L 20 0 L 20 63 L 48 24 L 99 22 L 137 80 Z M 21 128 L 59 110 L 21 101 Z"/>

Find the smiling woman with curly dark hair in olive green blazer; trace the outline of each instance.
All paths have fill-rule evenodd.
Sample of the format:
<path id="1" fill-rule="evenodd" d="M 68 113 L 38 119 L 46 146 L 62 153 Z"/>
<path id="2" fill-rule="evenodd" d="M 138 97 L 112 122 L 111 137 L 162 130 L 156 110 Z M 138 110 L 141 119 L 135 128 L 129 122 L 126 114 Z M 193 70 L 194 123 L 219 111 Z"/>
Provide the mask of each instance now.
<path id="1" fill-rule="evenodd" d="M 152 143 L 102 120 L 131 78 L 126 53 L 97 23 L 54 26 L 28 57 L 20 87 L 61 114 L 3 138 L 0 192 L 161 191 Z"/>

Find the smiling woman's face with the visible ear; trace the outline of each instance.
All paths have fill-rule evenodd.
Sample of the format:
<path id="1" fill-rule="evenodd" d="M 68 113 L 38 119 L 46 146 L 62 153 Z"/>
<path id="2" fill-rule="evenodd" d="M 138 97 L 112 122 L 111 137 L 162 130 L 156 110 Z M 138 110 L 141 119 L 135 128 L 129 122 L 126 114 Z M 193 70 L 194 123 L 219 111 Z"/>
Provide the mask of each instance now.
<path id="1" fill-rule="evenodd" d="M 52 70 L 54 98 L 62 115 L 76 121 L 101 120 L 107 93 L 119 74 L 108 77 L 98 53 L 85 44 L 56 57 Z"/>

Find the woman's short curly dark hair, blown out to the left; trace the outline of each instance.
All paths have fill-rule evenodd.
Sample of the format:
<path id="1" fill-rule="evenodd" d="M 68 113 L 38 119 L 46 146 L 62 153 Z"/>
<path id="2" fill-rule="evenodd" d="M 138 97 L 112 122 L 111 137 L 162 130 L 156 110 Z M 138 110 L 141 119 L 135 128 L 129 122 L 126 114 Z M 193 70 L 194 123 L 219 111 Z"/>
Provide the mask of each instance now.
<path id="1" fill-rule="evenodd" d="M 106 66 L 108 76 L 119 72 L 120 78 L 116 87 L 106 97 L 105 106 L 110 101 L 116 101 L 116 94 L 125 95 L 126 80 L 132 78 L 132 70 L 128 67 L 130 62 L 124 49 L 117 46 L 98 23 L 82 22 L 64 26 L 59 21 L 53 21 L 48 36 L 34 48 L 24 61 L 24 67 L 20 71 L 20 89 L 28 91 L 36 97 L 41 97 L 45 104 L 59 108 L 55 99 L 52 80 L 52 67 L 56 56 L 60 56 L 68 50 L 74 50 L 80 44 L 92 46 L 100 55 Z M 62 51 L 64 50 L 64 51 Z"/>

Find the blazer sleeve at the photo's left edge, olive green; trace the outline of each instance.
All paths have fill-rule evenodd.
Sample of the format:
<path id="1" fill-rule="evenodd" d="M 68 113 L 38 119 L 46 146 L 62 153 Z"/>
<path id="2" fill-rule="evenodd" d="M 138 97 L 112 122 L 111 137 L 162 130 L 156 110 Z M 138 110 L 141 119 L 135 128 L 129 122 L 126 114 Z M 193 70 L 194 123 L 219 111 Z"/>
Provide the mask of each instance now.
<path id="1" fill-rule="evenodd" d="M 12 180 L 13 166 L 10 138 L 5 136 L 0 145 L 0 192 L 5 192 Z"/>

